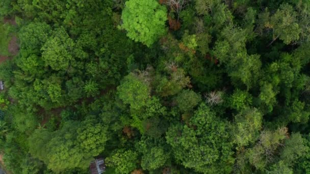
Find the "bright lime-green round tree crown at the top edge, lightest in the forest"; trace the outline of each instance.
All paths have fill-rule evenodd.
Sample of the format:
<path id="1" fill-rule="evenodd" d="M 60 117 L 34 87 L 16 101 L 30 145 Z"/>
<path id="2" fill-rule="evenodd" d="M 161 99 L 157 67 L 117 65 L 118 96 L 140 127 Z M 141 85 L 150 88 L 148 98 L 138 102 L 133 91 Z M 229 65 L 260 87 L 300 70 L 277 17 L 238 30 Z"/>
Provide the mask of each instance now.
<path id="1" fill-rule="evenodd" d="M 121 28 L 127 31 L 128 37 L 149 47 L 166 33 L 166 11 L 155 0 L 127 1 L 122 11 Z"/>

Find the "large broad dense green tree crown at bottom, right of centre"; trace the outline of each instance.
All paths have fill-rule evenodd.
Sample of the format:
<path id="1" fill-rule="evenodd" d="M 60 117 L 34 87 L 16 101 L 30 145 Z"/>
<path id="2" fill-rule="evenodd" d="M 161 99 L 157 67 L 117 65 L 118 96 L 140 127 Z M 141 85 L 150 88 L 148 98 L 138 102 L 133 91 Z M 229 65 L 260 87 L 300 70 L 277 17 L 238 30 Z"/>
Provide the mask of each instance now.
<path id="1" fill-rule="evenodd" d="M 230 172 L 233 167 L 233 144 L 228 124 L 201 104 L 190 125 L 177 124 L 169 128 L 166 139 L 174 157 L 185 167 L 198 172 Z"/>

